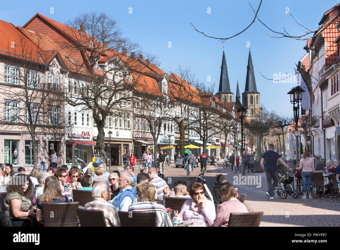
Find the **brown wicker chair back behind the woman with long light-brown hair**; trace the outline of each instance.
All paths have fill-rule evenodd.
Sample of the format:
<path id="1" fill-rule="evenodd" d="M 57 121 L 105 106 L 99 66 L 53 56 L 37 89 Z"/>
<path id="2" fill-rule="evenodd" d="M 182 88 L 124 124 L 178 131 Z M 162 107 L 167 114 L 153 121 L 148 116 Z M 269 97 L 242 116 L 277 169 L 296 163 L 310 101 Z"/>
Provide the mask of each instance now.
<path id="1" fill-rule="evenodd" d="M 77 227 L 79 202 L 43 202 L 44 227 Z"/>

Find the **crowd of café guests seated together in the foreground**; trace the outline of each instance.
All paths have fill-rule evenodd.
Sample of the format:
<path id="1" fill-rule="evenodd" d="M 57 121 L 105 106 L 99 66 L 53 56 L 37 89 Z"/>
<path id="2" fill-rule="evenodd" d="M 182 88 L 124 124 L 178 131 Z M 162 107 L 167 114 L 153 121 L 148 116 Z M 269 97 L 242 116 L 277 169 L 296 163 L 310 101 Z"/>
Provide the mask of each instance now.
<path id="1" fill-rule="evenodd" d="M 223 182 L 223 185 L 220 190 L 214 189 L 214 201 L 206 198 L 205 187 L 199 182 L 193 183 L 189 192 L 184 181 L 177 181 L 170 190 L 168 184 L 158 177 L 157 169 L 153 167 L 149 168 L 147 173 L 140 172 L 135 176 L 133 165 L 128 165 L 126 170 L 121 172 L 108 173 L 105 172 L 105 166 L 99 164 L 95 169 L 96 177 L 87 175 L 82 178 L 77 167 L 71 167 L 68 170 L 66 165 L 57 169 L 47 169 L 47 171 L 34 168 L 30 175 L 27 175 L 24 168 L 18 169 L 21 172 L 14 173 L 11 165 L 3 166 L 3 170 L 9 173 L 10 180 L 13 174 L 16 174 L 25 182 L 23 185 L 21 183 L 1 185 L 7 191 L 4 200 L 0 197 L 0 204 L 3 204 L 1 207 L 3 216 L 0 216 L 4 218 L 1 220 L 3 226 L 30 226 L 27 220 L 13 219 L 21 217 L 31 218 L 33 226 L 37 226 L 38 222 L 44 221 L 43 203 L 72 202 L 74 189 L 91 190 L 94 200 L 86 203 L 84 209 L 102 210 L 107 226 L 120 226 L 118 211 L 155 212 L 159 227 L 172 227 L 174 225 L 172 216 L 182 217 L 183 220 L 190 221 L 192 226 L 226 226 L 228 214 L 223 213 L 228 213 L 230 208 L 225 205 L 225 208 L 216 214 L 215 198 L 219 197 L 220 200 L 216 202 L 222 204 L 237 197 L 235 189 L 230 195 L 228 192 L 231 188 L 230 190 L 223 189 L 227 183 L 221 176 L 217 180 Z M 4 180 L 1 183 L 4 184 Z M 181 211 L 176 211 L 170 216 L 165 207 L 166 204 L 163 204 L 164 197 L 167 196 L 185 197 L 188 200 L 184 202 Z M 244 209 L 246 210 L 245 206 L 242 211 L 245 211 Z"/>

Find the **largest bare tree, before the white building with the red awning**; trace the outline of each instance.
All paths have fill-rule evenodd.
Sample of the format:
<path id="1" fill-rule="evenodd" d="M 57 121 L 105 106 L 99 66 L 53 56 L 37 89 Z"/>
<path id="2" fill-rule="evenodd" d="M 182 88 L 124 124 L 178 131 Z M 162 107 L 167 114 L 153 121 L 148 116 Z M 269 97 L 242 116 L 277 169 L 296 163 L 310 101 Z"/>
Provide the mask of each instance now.
<path id="1" fill-rule="evenodd" d="M 59 44 L 72 57 L 81 59 L 71 61 L 76 70 L 69 73 L 69 84 L 73 84 L 69 89 L 75 91 L 68 91 L 66 100 L 92 112 L 98 129 L 97 148 L 106 159 L 106 118 L 132 112 L 132 91 L 145 85 L 142 76 L 151 71 L 155 57 L 136 59 L 135 54 L 141 53 L 139 45 L 124 38 L 117 22 L 105 13 L 81 14 L 66 24 L 70 27 L 65 31 L 68 37 Z"/>

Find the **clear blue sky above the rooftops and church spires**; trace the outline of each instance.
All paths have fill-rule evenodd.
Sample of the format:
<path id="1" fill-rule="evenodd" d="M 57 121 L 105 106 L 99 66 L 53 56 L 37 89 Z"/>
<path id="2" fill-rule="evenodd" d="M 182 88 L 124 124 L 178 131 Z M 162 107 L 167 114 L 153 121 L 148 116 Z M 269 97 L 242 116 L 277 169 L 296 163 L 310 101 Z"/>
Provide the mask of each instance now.
<path id="1" fill-rule="evenodd" d="M 250 1 L 256 10 L 259 0 Z M 286 14 L 289 12 L 301 24 L 311 30 L 318 28 L 325 11 L 339 1 L 269 1 L 262 2 L 258 16 L 275 31 L 303 34 L 305 30 Z M 317 7 L 316 7 L 317 6 Z M 54 14 L 50 14 L 50 8 Z M 132 14 L 129 14 L 129 8 Z M 207 14 L 210 8 L 211 14 Z M 168 72 L 178 65 L 191 66 L 197 78 L 205 84 L 215 82 L 218 91 L 222 44 L 216 39 L 204 37 L 190 23 L 207 35 L 229 37 L 243 30 L 254 18 L 249 1 L 2 1 L 0 19 L 15 26 L 23 26 L 37 12 L 59 22 L 73 19 L 80 13 L 104 11 L 120 24 L 125 36 L 138 41 L 143 50 L 157 54 L 160 68 Z M 292 114 L 292 105 L 286 94 L 292 83 L 273 83 L 273 74 L 294 73 L 295 64 L 305 55 L 306 41 L 291 38 L 271 38 L 259 21 L 241 35 L 224 42 L 231 91 L 236 96 L 238 76 L 240 93 L 244 91 L 246 66 L 250 42 L 260 101 L 267 109 Z M 168 42 L 171 41 L 171 48 Z M 211 76 L 211 82 L 207 82 Z"/>

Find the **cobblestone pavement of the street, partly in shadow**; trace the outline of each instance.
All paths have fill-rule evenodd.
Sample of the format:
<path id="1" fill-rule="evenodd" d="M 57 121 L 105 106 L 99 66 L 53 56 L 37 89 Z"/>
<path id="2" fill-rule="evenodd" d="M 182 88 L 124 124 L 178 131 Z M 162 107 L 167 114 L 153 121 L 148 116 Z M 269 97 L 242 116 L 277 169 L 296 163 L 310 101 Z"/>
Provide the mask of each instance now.
<path id="1" fill-rule="evenodd" d="M 207 170 L 208 172 L 205 173 L 204 179 L 207 181 L 207 186 L 211 193 L 215 186 L 216 176 L 220 173 L 226 174 L 228 182 L 233 185 L 238 184 L 234 176 L 239 176 L 239 174 L 232 173 L 229 168 L 223 169 L 221 163 L 217 168 L 214 165 L 207 165 Z M 137 175 L 139 173 L 138 169 L 134 173 Z M 174 164 L 171 164 L 170 167 L 167 166 L 165 170 L 165 176 L 171 177 L 170 188 L 173 187 L 173 183 L 177 180 L 186 181 L 192 176 L 198 176 L 199 173 L 200 168 L 194 168 L 193 173 L 188 177 L 183 168 L 176 168 Z M 259 184 L 258 178 L 260 178 L 261 186 L 256 187 L 259 186 L 256 184 L 234 186 L 238 188 L 239 193 L 247 195 L 244 205 L 249 212 L 264 212 L 260 227 L 340 226 L 340 197 L 338 197 L 338 203 L 334 199 L 331 202 L 329 197 L 324 199 L 322 197 L 301 199 L 301 196 L 299 196 L 297 199 L 293 199 L 290 196 L 287 199 L 281 199 L 275 192 L 274 199 L 269 200 L 265 194 L 268 189 L 265 173 L 246 173 L 246 176 L 255 176 L 258 180 L 257 184 Z"/>

